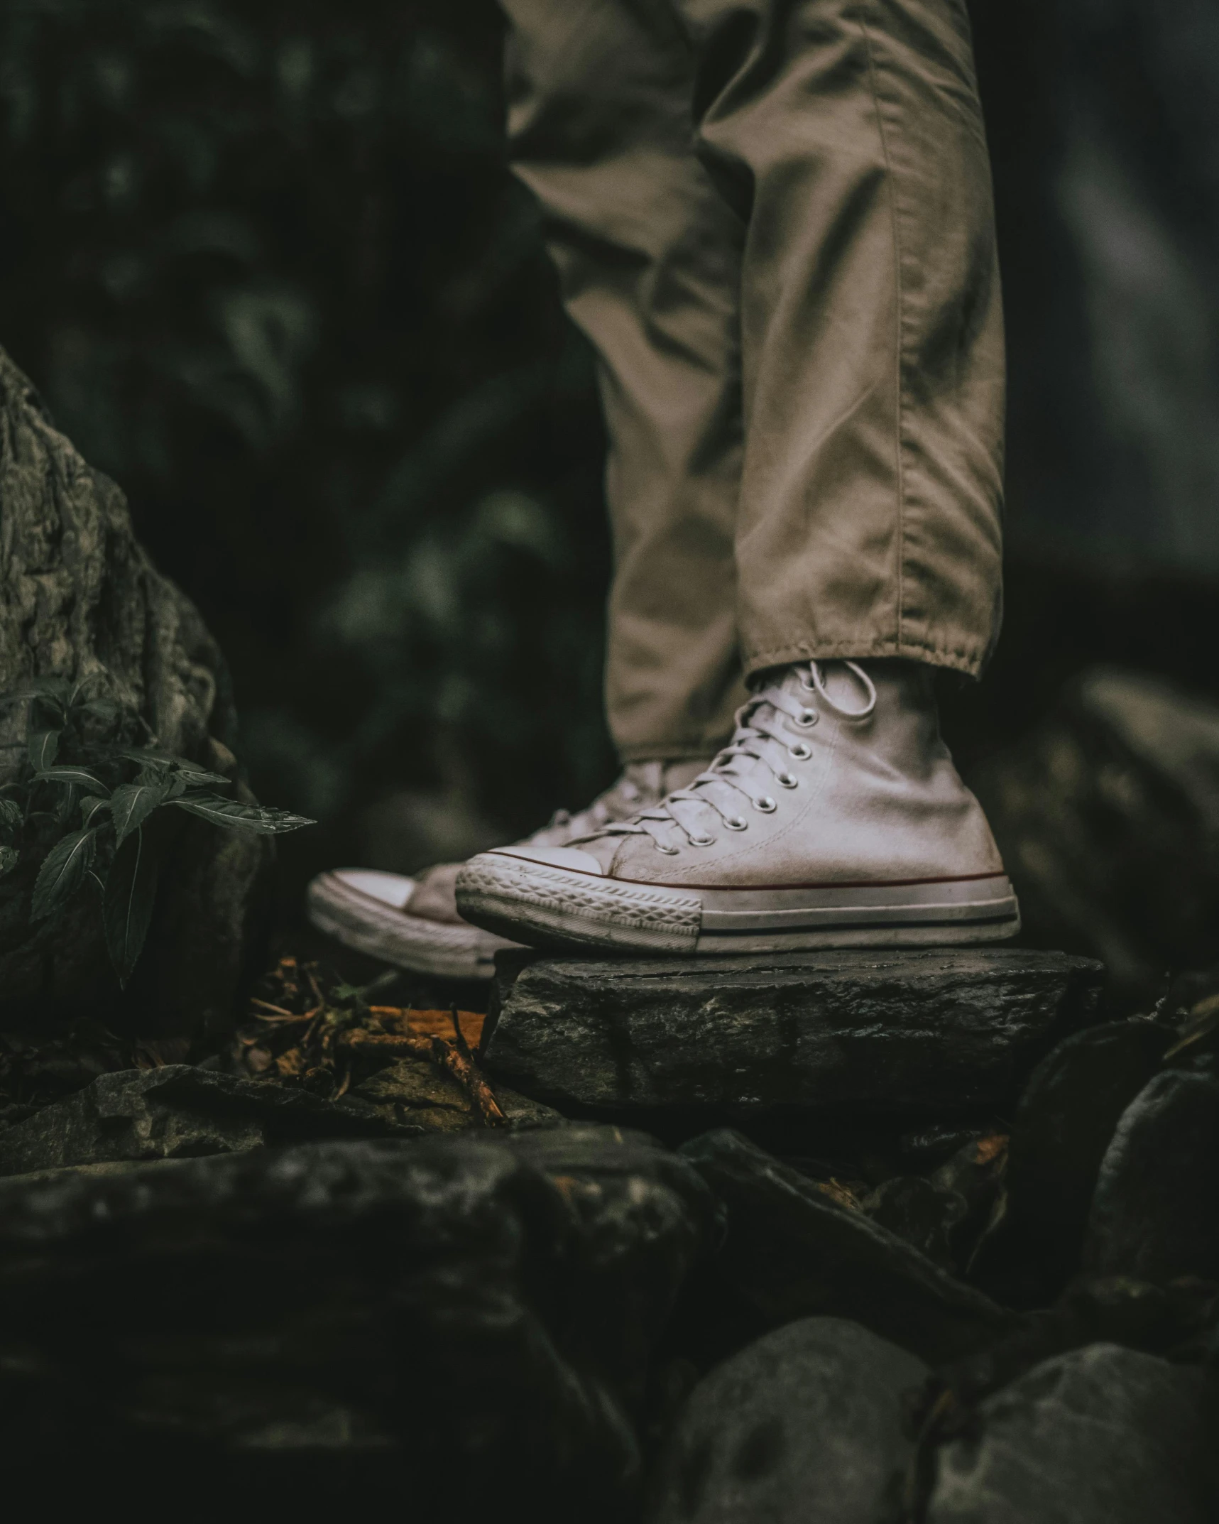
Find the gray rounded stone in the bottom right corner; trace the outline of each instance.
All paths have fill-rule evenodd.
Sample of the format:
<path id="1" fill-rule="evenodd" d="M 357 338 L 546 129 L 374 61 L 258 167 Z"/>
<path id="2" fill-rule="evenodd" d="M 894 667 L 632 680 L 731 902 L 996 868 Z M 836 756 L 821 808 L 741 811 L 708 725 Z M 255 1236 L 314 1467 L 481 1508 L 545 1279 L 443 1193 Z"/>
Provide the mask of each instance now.
<path id="1" fill-rule="evenodd" d="M 1208 1524 L 1211 1379 L 1115 1344 L 1047 1359 L 940 1451 L 926 1524 Z"/>

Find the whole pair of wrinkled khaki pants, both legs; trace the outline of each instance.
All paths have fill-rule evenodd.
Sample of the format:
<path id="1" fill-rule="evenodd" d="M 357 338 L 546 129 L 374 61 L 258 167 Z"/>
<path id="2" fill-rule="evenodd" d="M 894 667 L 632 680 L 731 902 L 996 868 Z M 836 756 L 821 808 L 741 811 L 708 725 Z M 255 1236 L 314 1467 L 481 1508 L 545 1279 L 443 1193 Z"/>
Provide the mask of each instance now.
<path id="1" fill-rule="evenodd" d="M 745 674 L 977 675 L 1004 357 L 961 0 L 504 0 L 509 142 L 600 361 L 625 759 Z"/>

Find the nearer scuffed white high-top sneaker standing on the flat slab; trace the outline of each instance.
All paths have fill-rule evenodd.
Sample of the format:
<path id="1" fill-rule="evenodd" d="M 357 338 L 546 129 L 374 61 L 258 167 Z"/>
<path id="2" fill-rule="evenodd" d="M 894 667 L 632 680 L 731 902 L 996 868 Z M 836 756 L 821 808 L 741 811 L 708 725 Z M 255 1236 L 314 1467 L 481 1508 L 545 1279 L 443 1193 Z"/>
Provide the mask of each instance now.
<path id="1" fill-rule="evenodd" d="M 993 942 L 1019 910 L 914 661 L 786 668 L 710 768 L 567 846 L 483 852 L 475 925 L 533 946 L 641 952 Z"/>

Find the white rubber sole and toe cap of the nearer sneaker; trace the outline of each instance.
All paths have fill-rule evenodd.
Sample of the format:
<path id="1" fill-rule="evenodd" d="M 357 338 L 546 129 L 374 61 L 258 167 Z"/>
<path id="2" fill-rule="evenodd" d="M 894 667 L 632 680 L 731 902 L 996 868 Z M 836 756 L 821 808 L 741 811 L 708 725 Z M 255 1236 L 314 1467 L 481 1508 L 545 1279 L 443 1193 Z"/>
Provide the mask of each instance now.
<path id="1" fill-rule="evenodd" d="M 533 946 L 640 952 L 1003 942 L 1019 907 L 1001 873 L 908 884 L 690 888 L 599 878 L 485 852 L 457 878 L 475 925 Z"/>

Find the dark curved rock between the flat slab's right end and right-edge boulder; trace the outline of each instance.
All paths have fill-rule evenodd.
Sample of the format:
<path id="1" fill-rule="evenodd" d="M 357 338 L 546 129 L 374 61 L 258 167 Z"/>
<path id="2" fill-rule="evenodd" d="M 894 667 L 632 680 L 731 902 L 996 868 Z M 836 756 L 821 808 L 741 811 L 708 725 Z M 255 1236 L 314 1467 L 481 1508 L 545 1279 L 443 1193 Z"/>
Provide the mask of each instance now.
<path id="1" fill-rule="evenodd" d="M 1003 1300 L 1053 1300 L 1079 1269 L 1100 1161 L 1172 1035 L 1134 1018 L 1077 1032 L 1033 1071 L 1012 1128 L 1003 1222 L 977 1273 Z"/>

